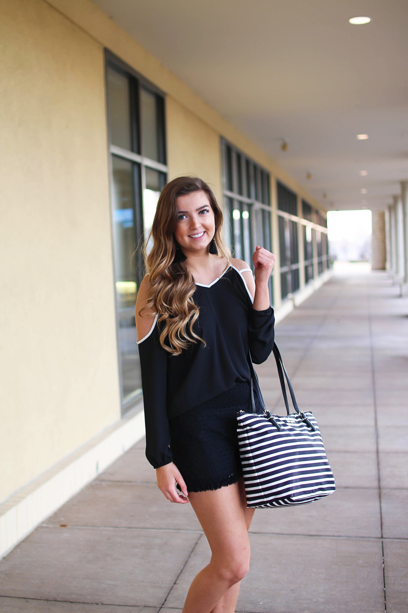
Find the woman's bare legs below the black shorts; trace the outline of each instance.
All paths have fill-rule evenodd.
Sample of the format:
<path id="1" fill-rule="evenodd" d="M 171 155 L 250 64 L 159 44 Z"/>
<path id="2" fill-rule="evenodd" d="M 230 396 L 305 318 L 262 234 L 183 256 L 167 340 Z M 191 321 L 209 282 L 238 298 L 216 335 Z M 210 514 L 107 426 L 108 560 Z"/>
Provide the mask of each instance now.
<path id="1" fill-rule="evenodd" d="M 250 562 L 248 527 L 253 512 L 246 505 L 244 510 L 239 483 L 218 490 L 190 492 L 188 498 L 210 544 L 212 557 L 190 585 L 183 613 L 233 613 L 239 592 L 236 584 L 247 574 Z M 231 592 L 232 586 L 235 589 Z"/>

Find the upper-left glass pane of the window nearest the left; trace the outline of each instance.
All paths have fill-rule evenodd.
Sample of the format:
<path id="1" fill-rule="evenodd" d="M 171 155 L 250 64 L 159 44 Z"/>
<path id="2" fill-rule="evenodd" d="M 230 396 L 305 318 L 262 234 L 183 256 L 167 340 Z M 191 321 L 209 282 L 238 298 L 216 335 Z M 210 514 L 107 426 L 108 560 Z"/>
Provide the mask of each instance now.
<path id="1" fill-rule="evenodd" d="M 108 121 L 112 145 L 132 150 L 129 79 L 112 67 L 106 69 Z"/>

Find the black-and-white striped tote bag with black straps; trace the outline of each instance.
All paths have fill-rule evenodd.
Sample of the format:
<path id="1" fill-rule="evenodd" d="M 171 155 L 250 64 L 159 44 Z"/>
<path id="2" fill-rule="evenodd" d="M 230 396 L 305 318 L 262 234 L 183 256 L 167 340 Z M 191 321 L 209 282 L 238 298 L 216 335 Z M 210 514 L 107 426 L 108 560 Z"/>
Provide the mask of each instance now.
<path id="1" fill-rule="evenodd" d="M 297 406 L 294 391 L 276 343 L 278 367 L 287 415 L 272 415 L 265 408 L 251 356 L 251 408 L 237 413 L 237 433 L 248 507 L 294 506 L 319 500 L 335 491 L 322 436 L 311 411 Z M 295 413 L 290 413 L 286 386 Z M 262 406 L 257 413 L 254 388 Z"/>

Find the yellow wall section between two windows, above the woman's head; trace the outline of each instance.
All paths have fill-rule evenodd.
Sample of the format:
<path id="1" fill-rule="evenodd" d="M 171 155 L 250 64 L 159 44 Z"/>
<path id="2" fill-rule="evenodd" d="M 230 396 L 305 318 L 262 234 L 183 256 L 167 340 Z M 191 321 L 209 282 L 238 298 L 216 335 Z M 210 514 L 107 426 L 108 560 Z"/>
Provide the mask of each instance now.
<path id="1" fill-rule="evenodd" d="M 169 180 L 198 175 L 222 205 L 221 145 L 217 131 L 171 96 L 166 99 Z"/>

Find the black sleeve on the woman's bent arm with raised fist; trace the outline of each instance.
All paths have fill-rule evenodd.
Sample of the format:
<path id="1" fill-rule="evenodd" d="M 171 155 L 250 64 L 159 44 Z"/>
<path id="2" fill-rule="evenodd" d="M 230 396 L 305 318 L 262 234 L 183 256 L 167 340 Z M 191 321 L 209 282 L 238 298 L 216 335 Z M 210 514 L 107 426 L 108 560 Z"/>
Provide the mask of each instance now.
<path id="1" fill-rule="evenodd" d="M 248 321 L 248 341 L 254 364 L 262 364 L 270 356 L 275 339 L 273 308 L 256 311 L 251 308 Z"/>

